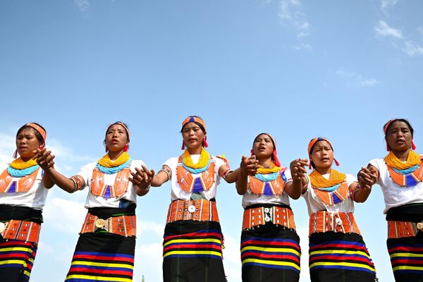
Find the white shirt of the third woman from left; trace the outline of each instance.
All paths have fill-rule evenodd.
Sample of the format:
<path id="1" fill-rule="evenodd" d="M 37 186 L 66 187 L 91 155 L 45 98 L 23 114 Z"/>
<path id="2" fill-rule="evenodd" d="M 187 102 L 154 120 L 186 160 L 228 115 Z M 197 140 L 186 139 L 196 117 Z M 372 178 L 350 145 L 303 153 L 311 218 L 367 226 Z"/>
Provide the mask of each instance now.
<path id="1" fill-rule="evenodd" d="M 164 166 L 168 166 L 171 168 L 172 174 L 171 174 L 171 200 L 190 200 L 192 192 L 187 192 L 180 188 L 180 185 L 178 183 L 178 177 L 176 176 L 176 167 L 178 166 L 178 159 L 176 158 L 170 158 L 165 161 L 163 164 Z M 191 155 L 192 162 L 196 164 L 198 160 L 200 159 L 200 154 L 192 154 Z M 214 161 L 214 178 L 215 181 L 212 185 L 212 187 L 209 190 L 204 190 L 200 192 L 202 197 L 206 200 L 211 200 L 213 198 L 216 198 L 216 186 L 219 185 L 221 176 L 219 175 L 219 168 L 223 165 L 226 165 L 225 161 L 223 159 L 219 159 L 218 157 L 212 156 L 212 161 Z M 201 173 L 198 174 L 192 174 L 192 181 L 195 181 L 195 178 L 199 178 L 201 176 Z"/>

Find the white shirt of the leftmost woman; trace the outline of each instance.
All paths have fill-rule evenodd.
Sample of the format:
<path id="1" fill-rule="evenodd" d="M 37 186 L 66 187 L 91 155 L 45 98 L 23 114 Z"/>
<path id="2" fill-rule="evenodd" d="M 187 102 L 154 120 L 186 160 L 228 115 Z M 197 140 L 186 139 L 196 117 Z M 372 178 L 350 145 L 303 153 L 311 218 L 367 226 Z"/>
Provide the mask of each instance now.
<path id="1" fill-rule="evenodd" d="M 8 167 L 8 164 L 0 164 L 0 173 Z M 18 181 L 20 178 L 13 177 L 12 181 Z M 4 193 L 0 192 L 0 204 L 11 206 L 30 207 L 32 209 L 42 210 L 46 204 L 47 193 L 49 189 L 42 185 L 42 169 L 38 169 L 35 182 L 27 192 Z"/>

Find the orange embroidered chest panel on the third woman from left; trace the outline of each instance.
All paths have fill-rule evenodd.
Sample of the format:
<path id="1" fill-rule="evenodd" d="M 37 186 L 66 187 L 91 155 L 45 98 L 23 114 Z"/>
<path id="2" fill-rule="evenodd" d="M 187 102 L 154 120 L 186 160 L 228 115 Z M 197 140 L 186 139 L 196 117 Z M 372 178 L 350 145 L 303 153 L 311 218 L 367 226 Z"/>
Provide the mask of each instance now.
<path id="1" fill-rule="evenodd" d="M 182 166 L 181 161 L 182 158 L 179 157 L 178 166 L 176 166 L 176 178 L 180 188 L 186 192 L 201 192 L 212 188 L 215 181 L 214 161 L 210 162 L 209 168 L 203 171 L 198 178 L 193 178 L 192 173 Z"/>

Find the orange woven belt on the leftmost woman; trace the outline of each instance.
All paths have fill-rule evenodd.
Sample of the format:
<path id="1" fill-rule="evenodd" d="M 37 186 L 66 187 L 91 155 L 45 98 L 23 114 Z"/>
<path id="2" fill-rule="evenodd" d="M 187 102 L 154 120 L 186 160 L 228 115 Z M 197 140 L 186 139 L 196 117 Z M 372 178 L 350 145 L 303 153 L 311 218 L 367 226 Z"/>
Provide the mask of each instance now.
<path id="1" fill-rule="evenodd" d="M 0 234 L 6 240 L 20 240 L 38 244 L 41 224 L 32 221 L 11 221 L 0 222 Z"/>

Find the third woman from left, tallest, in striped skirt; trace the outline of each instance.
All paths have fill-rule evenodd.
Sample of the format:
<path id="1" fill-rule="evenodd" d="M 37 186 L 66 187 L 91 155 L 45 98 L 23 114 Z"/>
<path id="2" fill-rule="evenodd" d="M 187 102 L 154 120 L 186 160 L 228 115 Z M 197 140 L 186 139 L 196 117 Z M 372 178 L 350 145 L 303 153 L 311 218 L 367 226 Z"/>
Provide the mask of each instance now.
<path id="1" fill-rule="evenodd" d="M 168 159 L 152 181 L 158 187 L 171 180 L 172 202 L 163 243 L 164 281 L 226 281 L 223 235 L 214 199 L 221 178 L 233 183 L 237 173 L 204 149 L 207 132 L 202 118 L 188 116 L 180 132 L 185 151 Z"/>

